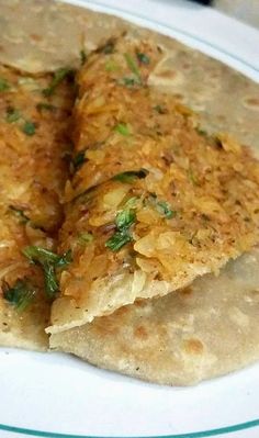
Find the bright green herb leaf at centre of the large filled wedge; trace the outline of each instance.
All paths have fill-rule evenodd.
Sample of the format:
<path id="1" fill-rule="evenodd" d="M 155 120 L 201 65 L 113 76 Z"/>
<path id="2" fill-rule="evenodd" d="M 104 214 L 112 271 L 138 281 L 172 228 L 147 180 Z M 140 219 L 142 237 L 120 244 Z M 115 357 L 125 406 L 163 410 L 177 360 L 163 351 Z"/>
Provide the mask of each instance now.
<path id="1" fill-rule="evenodd" d="M 115 218 L 116 232 L 106 240 L 105 247 L 117 251 L 132 242 L 131 226 L 136 222 L 136 214 L 131 209 L 117 213 Z"/>

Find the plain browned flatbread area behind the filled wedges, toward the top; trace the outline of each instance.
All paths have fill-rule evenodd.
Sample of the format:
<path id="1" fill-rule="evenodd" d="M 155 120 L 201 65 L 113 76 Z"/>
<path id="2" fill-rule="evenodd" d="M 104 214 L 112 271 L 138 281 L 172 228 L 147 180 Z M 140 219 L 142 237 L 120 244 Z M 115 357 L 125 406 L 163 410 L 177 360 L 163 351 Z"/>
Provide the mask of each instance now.
<path id="1" fill-rule="evenodd" d="M 234 134 L 259 154 L 258 85 L 174 38 L 52 0 L 0 0 L 0 61 L 32 74 L 79 67 L 81 50 L 88 54 L 123 31 L 154 38 L 168 52 L 153 83 L 198 111 L 205 130 Z"/>

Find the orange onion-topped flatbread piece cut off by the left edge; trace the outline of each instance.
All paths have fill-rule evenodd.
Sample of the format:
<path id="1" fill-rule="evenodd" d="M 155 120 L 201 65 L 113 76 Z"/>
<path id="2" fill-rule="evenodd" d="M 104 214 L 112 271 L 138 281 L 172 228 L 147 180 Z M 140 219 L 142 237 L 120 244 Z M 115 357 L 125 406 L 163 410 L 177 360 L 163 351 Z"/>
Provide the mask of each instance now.
<path id="1" fill-rule="evenodd" d="M 50 301 L 22 251 L 55 250 L 72 100 L 68 83 L 43 93 L 52 82 L 0 66 L 0 345 L 36 350 L 48 347 Z"/>

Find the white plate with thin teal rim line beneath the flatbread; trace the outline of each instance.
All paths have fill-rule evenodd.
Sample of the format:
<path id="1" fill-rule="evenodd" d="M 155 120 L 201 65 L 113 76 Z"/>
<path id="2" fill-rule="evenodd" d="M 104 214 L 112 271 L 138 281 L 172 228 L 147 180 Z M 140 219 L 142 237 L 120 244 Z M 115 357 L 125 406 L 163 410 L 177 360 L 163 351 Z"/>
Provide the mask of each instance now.
<path id="1" fill-rule="evenodd" d="M 177 0 L 70 1 L 169 34 L 259 80 L 259 32 Z M 176 389 L 65 355 L 0 350 L 0 438 L 259 437 L 259 366 Z"/>

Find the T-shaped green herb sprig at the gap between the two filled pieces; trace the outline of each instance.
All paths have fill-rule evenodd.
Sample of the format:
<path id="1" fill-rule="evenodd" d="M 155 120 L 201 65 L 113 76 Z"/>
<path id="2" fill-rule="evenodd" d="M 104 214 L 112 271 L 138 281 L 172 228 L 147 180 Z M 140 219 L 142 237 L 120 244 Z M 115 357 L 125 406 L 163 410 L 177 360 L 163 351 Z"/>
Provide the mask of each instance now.
<path id="1" fill-rule="evenodd" d="M 59 289 L 57 269 L 65 269 L 72 261 L 71 250 L 59 256 L 40 246 L 27 246 L 22 252 L 32 263 L 42 266 L 46 294 L 49 299 L 55 297 Z"/>

